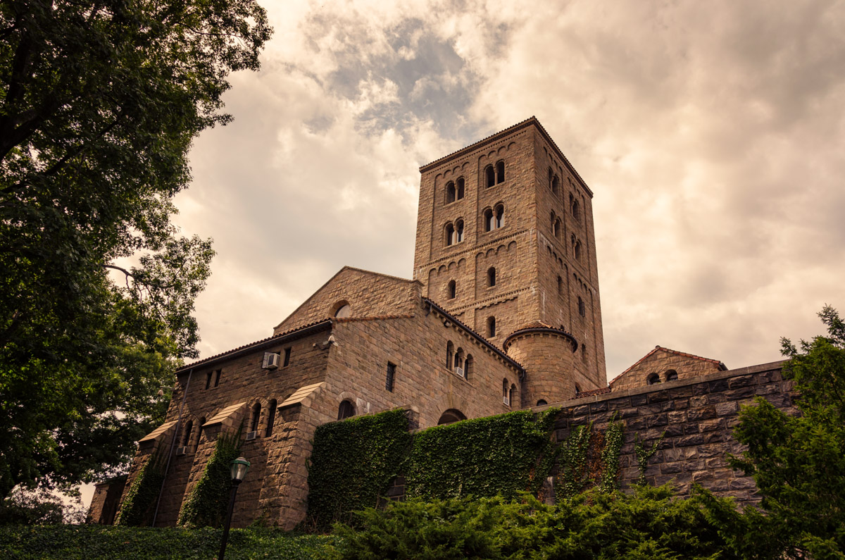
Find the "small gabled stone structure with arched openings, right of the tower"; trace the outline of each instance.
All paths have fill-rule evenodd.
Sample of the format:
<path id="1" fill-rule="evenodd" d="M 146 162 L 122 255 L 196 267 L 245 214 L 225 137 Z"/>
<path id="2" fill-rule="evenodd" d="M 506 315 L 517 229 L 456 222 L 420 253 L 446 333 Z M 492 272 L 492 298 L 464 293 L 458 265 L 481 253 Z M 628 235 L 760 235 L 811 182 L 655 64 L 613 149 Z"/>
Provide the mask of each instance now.
<path id="1" fill-rule="evenodd" d="M 610 382 L 610 387 L 613 387 L 613 391 L 646 387 L 649 377 L 653 375 L 657 375 L 660 382 L 666 382 L 667 374 L 672 370 L 678 374 L 678 379 L 690 379 L 727 369 L 719 360 L 702 358 L 701 356 L 657 346 L 634 365 L 631 365 L 630 368 L 616 376 Z"/>

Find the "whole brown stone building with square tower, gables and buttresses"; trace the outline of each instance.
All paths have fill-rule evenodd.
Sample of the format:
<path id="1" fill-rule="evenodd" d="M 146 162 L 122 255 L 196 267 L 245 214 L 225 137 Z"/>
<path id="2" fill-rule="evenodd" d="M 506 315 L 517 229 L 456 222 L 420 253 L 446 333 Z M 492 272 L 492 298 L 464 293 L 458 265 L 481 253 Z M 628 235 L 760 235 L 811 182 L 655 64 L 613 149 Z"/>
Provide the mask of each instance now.
<path id="1" fill-rule="evenodd" d="M 176 523 L 221 431 L 243 427 L 252 462 L 233 524 L 260 515 L 289 529 L 325 422 L 407 407 L 425 428 L 629 398 L 651 373 L 723 376 L 716 360 L 657 347 L 608 387 L 592 192 L 536 118 L 420 172 L 412 279 L 345 266 L 270 338 L 177 371 L 166 422 L 139 441 L 126 483 L 155 449 L 169 453 L 156 525 Z"/>

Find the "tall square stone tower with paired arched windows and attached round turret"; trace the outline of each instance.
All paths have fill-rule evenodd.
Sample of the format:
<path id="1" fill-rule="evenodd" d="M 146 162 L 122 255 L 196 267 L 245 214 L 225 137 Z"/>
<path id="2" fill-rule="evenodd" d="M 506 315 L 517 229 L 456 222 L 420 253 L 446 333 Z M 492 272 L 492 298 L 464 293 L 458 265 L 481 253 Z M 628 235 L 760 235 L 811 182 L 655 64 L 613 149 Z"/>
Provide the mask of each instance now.
<path id="1" fill-rule="evenodd" d="M 420 173 L 428 298 L 526 367 L 522 406 L 606 387 L 592 192 L 537 118 Z"/>

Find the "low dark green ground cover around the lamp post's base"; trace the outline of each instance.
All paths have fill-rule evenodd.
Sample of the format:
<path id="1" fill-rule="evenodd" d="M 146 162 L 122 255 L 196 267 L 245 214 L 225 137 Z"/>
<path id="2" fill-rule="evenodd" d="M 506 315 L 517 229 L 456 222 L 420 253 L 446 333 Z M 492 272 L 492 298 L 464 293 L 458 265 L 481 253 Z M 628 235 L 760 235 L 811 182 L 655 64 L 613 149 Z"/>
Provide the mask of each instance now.
<path id="1" fill-rule="evenodd" d="M 0 558 L 214 558 L 222 530 L 153 529 L 103 525 L 0 527 Z M 334 537 L 278 530 L 233 529 L 226 558 L 313 558 Z"/>

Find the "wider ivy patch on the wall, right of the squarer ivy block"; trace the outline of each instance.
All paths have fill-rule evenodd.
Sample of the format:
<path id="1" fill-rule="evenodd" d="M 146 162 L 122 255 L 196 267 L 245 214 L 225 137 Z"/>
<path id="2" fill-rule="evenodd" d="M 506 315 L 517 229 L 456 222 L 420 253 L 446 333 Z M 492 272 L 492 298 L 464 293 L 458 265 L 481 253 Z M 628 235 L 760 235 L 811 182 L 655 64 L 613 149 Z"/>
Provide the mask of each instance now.
<path id="1" fill-rule="evenodd" d="M 408 458 L 406 496 L 536 494 L 554 464 L 558 412 L 518 410 L 420 431 Z"/>

